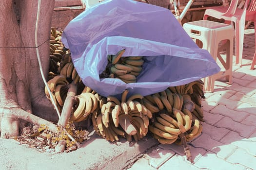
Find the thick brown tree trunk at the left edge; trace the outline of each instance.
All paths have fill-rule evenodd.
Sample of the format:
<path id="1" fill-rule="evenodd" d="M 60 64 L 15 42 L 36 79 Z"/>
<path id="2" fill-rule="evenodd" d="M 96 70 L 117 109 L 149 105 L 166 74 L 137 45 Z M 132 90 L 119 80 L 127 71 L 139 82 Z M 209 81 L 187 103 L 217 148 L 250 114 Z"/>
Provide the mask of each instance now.
<path id="1" fill-rule="evenodd" d="M 42 0 L 38 45 L 44 75 L 49 69 L 49 37 L 54 0 Z M 44 94 L 35 48 L 37 0 L 0 2 L 0 117 L 1 137 L 19 136 L 24 111 L 58 121 Z M 23 119 L 23 118 L 22 118 Z M 28 117 L 24 118 L 28 121 Z"/>

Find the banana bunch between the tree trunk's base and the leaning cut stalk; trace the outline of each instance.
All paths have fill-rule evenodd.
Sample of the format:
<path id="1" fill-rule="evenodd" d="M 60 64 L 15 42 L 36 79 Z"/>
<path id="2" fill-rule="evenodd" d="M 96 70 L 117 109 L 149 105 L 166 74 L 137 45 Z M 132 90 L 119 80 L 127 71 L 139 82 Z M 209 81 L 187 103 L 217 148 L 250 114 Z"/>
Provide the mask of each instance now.
<path id="1" fill-rule="evenodd" d="M 47 85 L 50 89 L 50 93 L 52 93 L 54 101 L 51 100 L 47 87 L 44 87 L 44 92 L 47 99 L 49 99 L 52 103 L 54 102 L 59 108 L 59 111 L 62 110 L 63 103 L 67 97 L 68 84 L 69 83 L 67 79 L 60 75 L 54 76 L 47 82 Z"/>

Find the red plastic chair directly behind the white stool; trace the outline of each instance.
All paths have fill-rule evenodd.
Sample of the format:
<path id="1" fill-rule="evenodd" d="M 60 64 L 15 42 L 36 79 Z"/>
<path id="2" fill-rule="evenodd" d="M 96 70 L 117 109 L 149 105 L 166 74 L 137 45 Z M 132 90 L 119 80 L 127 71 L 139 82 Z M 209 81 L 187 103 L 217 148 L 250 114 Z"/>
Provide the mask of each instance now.
<path id="1" fill-rule="evenodd" d="M 243 0 L 243 8 L 238 8 L 238 0 L 232 0 L 228 7 L 217 6 L 205 10 L 203 19 L 206 20 L 209 16 L 217 19 L 224 19 L 225 23 L 235 23 L 236 28 L 236 64 L 242 65 L 243 39 L 245 28 L 246 9 L 249 0 Z M 255 1 L 255 0 L 253 0 Z"/>

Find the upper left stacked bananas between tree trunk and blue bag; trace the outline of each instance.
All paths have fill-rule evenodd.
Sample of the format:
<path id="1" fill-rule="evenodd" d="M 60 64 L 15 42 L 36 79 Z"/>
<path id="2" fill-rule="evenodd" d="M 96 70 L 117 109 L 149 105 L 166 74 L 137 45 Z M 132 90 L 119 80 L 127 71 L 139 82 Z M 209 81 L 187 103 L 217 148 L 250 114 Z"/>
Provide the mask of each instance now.
<path id="1" fill-rule="evenodd" d="M 51 28 L 50 36 L 50 71 L 58 73 L 59 63 L 66 49 L 61 42 L 62 31 Z"/>

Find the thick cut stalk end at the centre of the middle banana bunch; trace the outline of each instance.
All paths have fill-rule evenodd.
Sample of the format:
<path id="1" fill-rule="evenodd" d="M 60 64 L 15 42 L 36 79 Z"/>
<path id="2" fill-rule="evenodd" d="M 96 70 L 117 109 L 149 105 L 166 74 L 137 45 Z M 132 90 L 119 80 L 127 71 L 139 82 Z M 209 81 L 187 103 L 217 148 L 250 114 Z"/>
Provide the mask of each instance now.
<path id="1" fill-rule="evenodd" d="M 137 130 L 131 124 L 129 118 L 126 115 L 119 116 L 119 124 L 128 135 L 132 136 L 137 133 Z"/>

